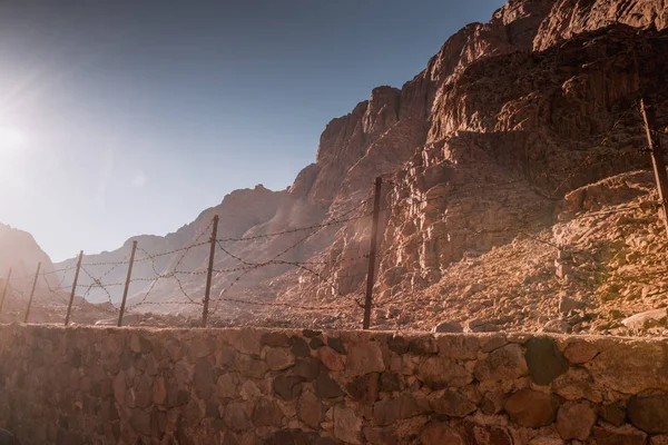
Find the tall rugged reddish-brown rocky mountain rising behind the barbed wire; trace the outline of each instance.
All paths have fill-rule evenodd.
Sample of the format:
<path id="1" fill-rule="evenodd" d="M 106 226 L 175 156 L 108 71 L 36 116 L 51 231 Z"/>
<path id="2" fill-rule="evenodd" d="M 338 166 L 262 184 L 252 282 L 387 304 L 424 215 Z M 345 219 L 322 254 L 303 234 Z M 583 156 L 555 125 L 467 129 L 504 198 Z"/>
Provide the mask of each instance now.
<path id="1" fill-rule="evenodd" d="M 562 227 L 573 190 L 649 166 L 638 100 L 644 93 L 666 126 L 667 11 L 665 0 L 511 0 L 488 23 L 448 39 L 401 89 L 376 88 L 333 119 L 316 162 L 287 190 L 237 190 L 175 234 L 136 238 L 130 307 L 199 312 L 217 214 L 214 319 L 358 325 L 354 300 L 366 279 L 370 220 L 348 219 L 370 211 L 373 178 L 382 176 L 374 322 L 423 328 L 443 319 L 462 295 L 482 291 L 466 276 L 471 258 L 492 258 L 519 237 L 557 245 L 550 255 L 558 255 L 566 238 L 549 234 Z M 85 258 L 87 298 L 118 304 L 127 266 L 117 263 L 130 241 Z M 173 254 L 155 256 L 165 251 Z M 608 259 L 597 260 L 607 267 Z M 459 280 L 448 281 L 453 274 Z M 597 287 L 553 277 L 561 290 L 546 285 L 546 295 L 532 298 L 553 307 L 559 293 L 573 291 L 601 303 Z M 499 290 L 481 298 L 510 297 Z M 415 312 L 401 314 L 404 301 Z M 461 323 L 474 313 L 451 315 Z"/>

